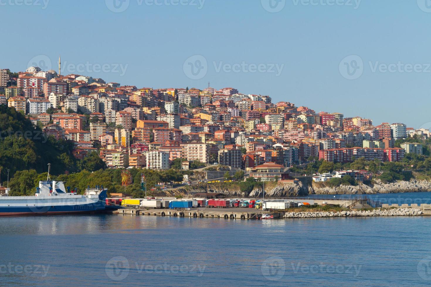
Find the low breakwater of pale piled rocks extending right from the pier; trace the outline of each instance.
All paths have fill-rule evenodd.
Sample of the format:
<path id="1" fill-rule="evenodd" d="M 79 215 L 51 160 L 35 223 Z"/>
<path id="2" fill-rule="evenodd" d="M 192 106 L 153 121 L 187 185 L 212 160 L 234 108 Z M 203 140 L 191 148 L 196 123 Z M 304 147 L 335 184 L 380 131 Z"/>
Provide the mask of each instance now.
<path id="1" fill-rule="evenodd" d="M 365 217 L 365 216 L 419 216 L 423 212 L 417 208 L 353 210 L 339 212 L 287 212 L 283 218 L 322 218 L 322 217 Z"/>

